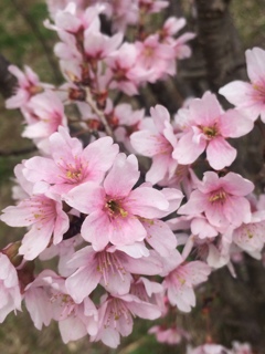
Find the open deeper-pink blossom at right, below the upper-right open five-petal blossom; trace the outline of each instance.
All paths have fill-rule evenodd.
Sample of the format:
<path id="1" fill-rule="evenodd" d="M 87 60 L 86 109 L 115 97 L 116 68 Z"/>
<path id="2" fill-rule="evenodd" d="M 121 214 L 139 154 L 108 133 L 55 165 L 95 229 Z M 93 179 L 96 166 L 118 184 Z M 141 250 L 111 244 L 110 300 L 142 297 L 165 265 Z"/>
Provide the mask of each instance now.
<path id="1" fill-rule="evenodd" d="M 218 174 L 208 171 L 178 212 L 193 216 L 204 212 L 212 226 L 239 227 L 251 220 L 251 206 L 245 196 L 253 189 L 254 185 L 241 175 L 229 173 L 219 178 Z"/>

